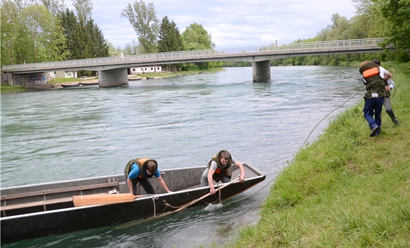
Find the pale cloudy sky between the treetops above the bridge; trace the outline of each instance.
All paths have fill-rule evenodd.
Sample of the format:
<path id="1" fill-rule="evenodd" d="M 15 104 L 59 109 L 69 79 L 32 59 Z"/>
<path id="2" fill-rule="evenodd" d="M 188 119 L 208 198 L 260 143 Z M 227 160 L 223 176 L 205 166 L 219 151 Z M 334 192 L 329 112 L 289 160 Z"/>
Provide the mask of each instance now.
<path id="1" fill-rule="evenodd" d="M 122 9 L 135 0 L 91 0 L 92 17 L 115 47 L 137 40 Z M 151 0 L 157 18 L 168 16 L 182 32 L 196 22 L 211 34 L 216 48 L 286 44 L 313 38 L 331 24 L 332 14 L 350 19 L 351 0 Z M 146 0 L 148 5 L 150 1 Z M 68 0 L 67 4 L 71 4 Z"/>

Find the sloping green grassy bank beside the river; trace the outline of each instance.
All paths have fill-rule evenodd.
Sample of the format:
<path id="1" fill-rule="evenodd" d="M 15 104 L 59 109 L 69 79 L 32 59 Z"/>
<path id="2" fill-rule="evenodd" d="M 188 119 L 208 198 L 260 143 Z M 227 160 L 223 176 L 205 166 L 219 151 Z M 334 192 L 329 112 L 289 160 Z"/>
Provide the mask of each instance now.
<path id="1" fill-rule="evenodd" d="M 382 66 L 396 71 L 402 125 L 383 108 L 370 137 L 364 101 L 341 113 L 276 179 L 259 223 L 226 247 L 410 247 L 410 63 Z"/>

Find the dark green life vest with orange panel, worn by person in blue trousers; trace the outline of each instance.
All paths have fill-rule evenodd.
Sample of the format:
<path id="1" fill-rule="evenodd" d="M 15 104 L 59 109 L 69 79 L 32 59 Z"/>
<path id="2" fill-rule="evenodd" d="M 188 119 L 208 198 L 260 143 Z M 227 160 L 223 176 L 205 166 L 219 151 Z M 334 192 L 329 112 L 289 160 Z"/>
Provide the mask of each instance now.
<path id="1" fill-rule="evenodd" d="M 384 97 L 385 85 L 383 78 L 380 76 L 380 69 L 373 62 L 366 62 L 359 68 L 360 74 L 366 82 L 365 98 Z"/>

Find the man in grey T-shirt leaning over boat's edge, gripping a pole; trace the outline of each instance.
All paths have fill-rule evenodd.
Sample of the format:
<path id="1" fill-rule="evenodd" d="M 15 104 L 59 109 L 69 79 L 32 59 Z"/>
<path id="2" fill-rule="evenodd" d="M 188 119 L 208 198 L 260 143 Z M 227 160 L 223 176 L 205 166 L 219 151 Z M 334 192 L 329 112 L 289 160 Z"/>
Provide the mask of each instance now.
<path id="1" fill-rule="evenodd" d="M 209 192 L 215 194 L 214 182 L 221 181 L 222 183 L 231 182 L 232 171 L 231 166 L 235 165 L 240 170 L 240 183 L 245 180 L 245 171 L 243 165 L 234 159 L 226 150 L 218 152 L 208 163 L 208 168 L 202 173 L 201 187 L 210 186 Z"/>

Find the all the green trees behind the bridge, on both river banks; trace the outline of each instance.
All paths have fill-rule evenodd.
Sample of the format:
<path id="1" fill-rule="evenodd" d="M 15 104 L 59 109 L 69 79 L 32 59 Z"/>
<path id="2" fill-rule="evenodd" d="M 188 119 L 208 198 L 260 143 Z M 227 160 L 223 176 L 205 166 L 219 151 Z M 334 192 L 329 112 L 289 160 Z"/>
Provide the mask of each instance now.
<path id="1" fill-rule="evenodd" d="M 390 37 L 378 54 L 382 61 L 409 61 L 410 4 L 408 0 L 353 0 L 356 15 L 347 19 L 335 13 L 331 24 L 309 39 L 294 43 Z M 115 48 L 92 18 L 91 0 L 1 1 L 1 66 L 15 63 L 89 59 L 144 53 L 213 49 L 212 36 L 201 24 L 192 23 L 181 33 L 174 20 L 157 18 L 152 2 L 129 3 L 119 13 L 127 18 L 137 40 Z M 274 44 L 272 44 L 274 45 Z M 374 55 L 308 56 L 271 61 L 272 65 L 341 64 L 350 60 L 373 59 Z M 367 58 L 369 57 L 369 58 Z M 204 62 L 169 65 L 170 70 L 221 66 L 249 66 L 249 62 Z"/>

